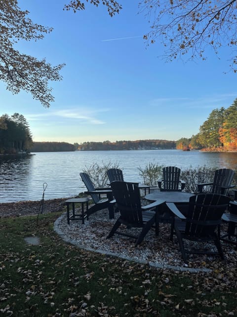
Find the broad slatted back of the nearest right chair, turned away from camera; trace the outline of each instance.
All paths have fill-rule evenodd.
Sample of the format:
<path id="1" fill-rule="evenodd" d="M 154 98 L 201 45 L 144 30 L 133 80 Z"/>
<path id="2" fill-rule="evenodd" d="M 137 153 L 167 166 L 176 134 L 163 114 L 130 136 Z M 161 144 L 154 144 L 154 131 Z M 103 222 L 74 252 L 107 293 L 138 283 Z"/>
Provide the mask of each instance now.
<path id="1" fill-rule="evenodd" d="M 189 201 L 185 234 L 189 237 L 212 235 L 221 216 L 228 209 L 230 198 L 220 194 L 199 194 Z"/>

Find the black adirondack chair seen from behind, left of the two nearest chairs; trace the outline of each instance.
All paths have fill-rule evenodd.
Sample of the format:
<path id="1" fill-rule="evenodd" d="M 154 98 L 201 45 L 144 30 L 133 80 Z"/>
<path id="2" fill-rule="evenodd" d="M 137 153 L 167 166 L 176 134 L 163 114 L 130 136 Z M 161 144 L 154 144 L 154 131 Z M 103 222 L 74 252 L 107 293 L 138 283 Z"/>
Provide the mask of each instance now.
<path id="1" fill-rule="evenodd" d="M 117 233 L 136 239 L 135 246 L 137 246 L 143 241 L 153 225 L 155 225 L 156 234 L 158 234 L 156 211 L 151 211 L 151 209 L 158 208 L 159 205 L 164 203 L 163 200 L 142 207 L 139 188 L 134 183 L 114 181 L 111 183 L 111 188 L 120 216 L 107 238 L 110 238 Z M 126 227 L 124 228 L 124 231 L 118 231 L 121 224 Z M 131 228 L 141 228 L 141 231 L 138 235 L 131 234 L 129 233 L 129 229 Z"/>

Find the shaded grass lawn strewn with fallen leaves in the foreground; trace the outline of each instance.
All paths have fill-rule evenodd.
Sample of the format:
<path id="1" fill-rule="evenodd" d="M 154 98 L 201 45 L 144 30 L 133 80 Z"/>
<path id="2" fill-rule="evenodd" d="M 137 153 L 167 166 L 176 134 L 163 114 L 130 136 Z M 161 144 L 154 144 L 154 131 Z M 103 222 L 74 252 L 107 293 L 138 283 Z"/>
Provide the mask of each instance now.
<path id="1" fill-rule="evenodd" d="M 0 316 L 237 316 L 236 269 L 173 272 L 79 250 L 53 231 L 59 214 L 0 219 Z"/>

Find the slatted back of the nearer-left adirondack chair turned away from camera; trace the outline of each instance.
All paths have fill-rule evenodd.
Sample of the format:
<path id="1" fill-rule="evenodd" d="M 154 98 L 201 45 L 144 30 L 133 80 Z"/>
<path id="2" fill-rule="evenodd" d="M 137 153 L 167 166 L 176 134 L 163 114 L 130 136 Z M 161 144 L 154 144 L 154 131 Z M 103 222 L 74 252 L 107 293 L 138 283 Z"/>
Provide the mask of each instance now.
<path id="1" fill-rule="evenodd" d="M 139 188 L 134 183 L 122 181 L 112 182 L 111 188 L 122 219 L 141 226 L 143 219 Z"/>

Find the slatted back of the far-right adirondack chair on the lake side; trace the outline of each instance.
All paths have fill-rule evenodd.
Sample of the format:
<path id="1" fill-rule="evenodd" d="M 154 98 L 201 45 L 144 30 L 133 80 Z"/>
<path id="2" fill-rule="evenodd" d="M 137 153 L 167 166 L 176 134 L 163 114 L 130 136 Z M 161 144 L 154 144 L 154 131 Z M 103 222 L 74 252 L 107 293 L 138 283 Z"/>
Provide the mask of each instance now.
<path id="1" fill-rule="evenodd" d="M 221 189 L 222 186 L 230 186 L 235 175 L 235 171 L 228 168 L 217 169 L 214 174 L 212 193 L 225 195 L 228 191 Z"/>

